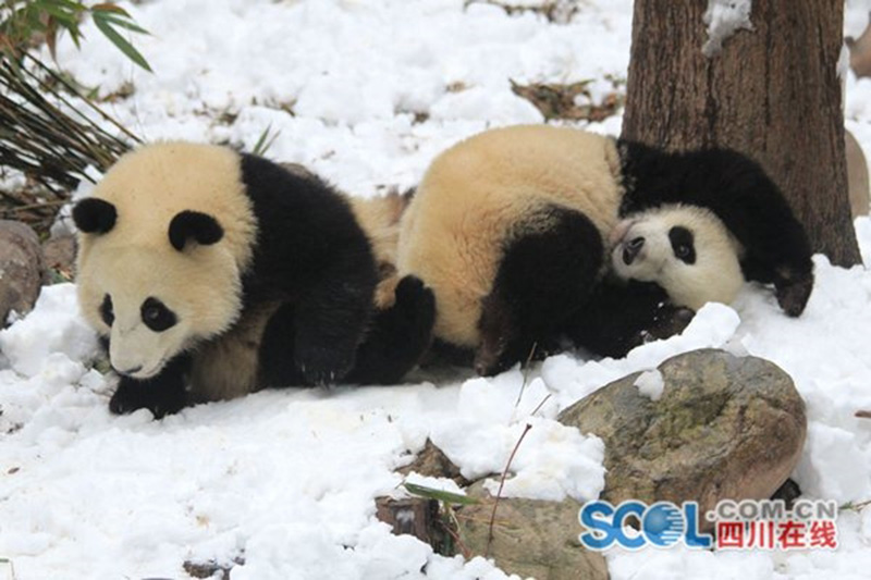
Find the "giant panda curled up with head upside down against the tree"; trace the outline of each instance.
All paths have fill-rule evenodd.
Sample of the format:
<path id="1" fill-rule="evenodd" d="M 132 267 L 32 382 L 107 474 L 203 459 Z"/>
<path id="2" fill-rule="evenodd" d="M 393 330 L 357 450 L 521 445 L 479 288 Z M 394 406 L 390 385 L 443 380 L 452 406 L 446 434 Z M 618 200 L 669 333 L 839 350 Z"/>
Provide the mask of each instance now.
<path id="1" fill-rule="evenodd" d="M 436 294 L 439 344 L 481 374 L 566 334 L 625 355 L 773 282 L 797 316 L 810 247 L 782 195 L 727 150 L 667 153 L 548 125 L 486 131 L 439 155 L 402 219 L 397 272 Z"/>

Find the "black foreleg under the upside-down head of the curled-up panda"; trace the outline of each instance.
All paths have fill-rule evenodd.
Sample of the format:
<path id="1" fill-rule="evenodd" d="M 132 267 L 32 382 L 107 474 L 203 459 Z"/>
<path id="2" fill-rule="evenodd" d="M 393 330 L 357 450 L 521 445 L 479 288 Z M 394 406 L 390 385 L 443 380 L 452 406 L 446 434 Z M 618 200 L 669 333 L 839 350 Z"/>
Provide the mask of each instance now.
<path id="1" fill-rule="evenodd" d="M 636 346 L 683 332 L 694 316 L 691 309 L 671 304 L 657 284 L 608 276 L 564 332 L 591 353 L 622 358 Z"/>

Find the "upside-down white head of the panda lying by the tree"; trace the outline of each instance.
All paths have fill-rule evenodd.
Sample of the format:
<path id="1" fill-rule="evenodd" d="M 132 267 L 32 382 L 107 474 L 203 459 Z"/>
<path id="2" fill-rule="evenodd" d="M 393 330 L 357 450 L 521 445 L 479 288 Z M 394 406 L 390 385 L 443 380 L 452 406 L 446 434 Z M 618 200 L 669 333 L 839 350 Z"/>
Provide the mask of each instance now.
<path id="1" fill-rule="evenodd" d="M 740 245 L 704 208 L 670 205 L 636 213 L 617 225 L 612 243 L 618 276 L 655 282 L 678 306 L 729 304 L 744 284 Z"/>

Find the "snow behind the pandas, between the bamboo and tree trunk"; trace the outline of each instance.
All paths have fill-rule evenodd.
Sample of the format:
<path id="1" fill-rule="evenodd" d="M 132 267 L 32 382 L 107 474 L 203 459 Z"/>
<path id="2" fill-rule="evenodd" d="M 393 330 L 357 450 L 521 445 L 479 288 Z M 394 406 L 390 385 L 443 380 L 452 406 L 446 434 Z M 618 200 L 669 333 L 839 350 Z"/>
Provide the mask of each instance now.
<path id="1" fill-rule="evenodd" d="M 133 40 L 156 74 L 120 57 L 91 26 L 81 51 L 62 42 L 58 59 L 101 95 L 133 84 L 133 96 L 109 103 L 109 112 L 150 140 L 250 148 L 271 126 L 280 135 L 270 157 L 304 163 L 360 195 L 414 185 L 437 152 L 487 126 L 540 122 L 511 79 L 626 77 L 628 50 L 614 46 L 629 46 L 630 0 L 585 5 L 569 25 L 463 4 L 124 2 L 152 33 Z M 229 123 L 223 113 L 237 116 Z"/>

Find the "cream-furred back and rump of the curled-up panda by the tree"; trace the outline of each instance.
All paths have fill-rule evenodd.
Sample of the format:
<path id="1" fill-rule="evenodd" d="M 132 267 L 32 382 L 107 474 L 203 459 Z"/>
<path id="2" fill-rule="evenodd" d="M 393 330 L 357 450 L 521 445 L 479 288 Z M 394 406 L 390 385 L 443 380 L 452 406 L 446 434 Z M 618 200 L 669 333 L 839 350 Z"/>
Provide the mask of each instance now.
<path id="1" fill-rule="evenodd" d="M 427 170 L 403 218 L 398 271 L 419 276 L 436 293 L 436 335 L 474 346 L 481 299 L 504 248 L 550 226 L 540 210 L 579 211 L 606 238 L 621 196 L 610 138 L 547 125 L 481 133 L 441 153 Z"/>

